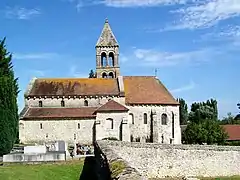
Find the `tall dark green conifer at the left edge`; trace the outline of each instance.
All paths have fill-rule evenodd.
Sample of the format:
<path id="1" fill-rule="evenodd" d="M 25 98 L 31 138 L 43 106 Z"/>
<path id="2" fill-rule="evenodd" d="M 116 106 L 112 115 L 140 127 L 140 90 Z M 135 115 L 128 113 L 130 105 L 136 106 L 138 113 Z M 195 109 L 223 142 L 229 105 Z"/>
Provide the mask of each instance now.
<path id="1" fill-rule="evenodd" d="M 19 90 L 11 60 L 4 38 L 0 41 L 0 155 L 10 152 L 18 137 Z"/>

